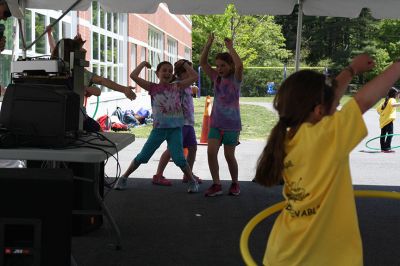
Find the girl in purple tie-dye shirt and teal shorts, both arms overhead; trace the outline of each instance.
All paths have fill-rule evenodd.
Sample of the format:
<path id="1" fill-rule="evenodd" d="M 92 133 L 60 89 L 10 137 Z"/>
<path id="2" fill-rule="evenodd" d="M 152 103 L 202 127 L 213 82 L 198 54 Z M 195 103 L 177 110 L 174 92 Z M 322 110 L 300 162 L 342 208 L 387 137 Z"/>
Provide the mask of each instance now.
<path id="1" fill-rule="evenodd" d="M 214 35 L 211 34 L 200 57 L 202 69 L 214 82 L 214 104 L 210 116 L 207 147 L 208 166 L 213 185 L 205 192 L 205 196 L 222 195 L 218 165 L 218 151 L 221 144 L 224 144 L 224 155 L 232 178 L 229 194 L 237 196 L 240 194 L 240 187 L 235 149 L 239 143 L 242 129 L 239 94 L 243 78 L 243 63 L 233 48 L 232 40 L 225 38 L 225 46 L 229 53 L 217 54 L 215 57 L 216 69 L 213 69 L 207 61 L 213 41 Z"/>

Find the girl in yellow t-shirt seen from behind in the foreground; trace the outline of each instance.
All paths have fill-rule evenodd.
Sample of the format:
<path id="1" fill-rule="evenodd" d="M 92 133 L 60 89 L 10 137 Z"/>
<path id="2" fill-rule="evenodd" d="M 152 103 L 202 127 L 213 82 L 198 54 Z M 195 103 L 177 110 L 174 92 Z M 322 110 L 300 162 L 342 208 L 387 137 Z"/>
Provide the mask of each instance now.
<path id="1" fill-rule="evenodd" d="M 355 57 L 335 80 L 302 70 L 274 98 L 279 121 L 257 162 L 264 186 L 284 180 L 286 206 L 268 238 L 264 265 L 363 265 L 349 154 L 367 135 L 362 114 L 400 78 L 400 62 L 365 84 L 340 111 L 354 75 L 373 60 Z"/>

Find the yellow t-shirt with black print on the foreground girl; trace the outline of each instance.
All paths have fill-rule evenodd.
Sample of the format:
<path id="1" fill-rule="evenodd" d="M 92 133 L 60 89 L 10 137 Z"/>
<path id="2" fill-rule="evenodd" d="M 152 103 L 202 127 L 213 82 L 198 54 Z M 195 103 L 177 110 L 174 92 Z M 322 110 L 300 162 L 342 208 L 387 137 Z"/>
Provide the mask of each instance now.
<path id="1" fill-rule="evenodd" d="M 304 123 L 285 143 L 286 207 L 268 239 L 264 265 L 363 264 L 349 153 L 367 135 L 351 99 L 340 111 Z"/>

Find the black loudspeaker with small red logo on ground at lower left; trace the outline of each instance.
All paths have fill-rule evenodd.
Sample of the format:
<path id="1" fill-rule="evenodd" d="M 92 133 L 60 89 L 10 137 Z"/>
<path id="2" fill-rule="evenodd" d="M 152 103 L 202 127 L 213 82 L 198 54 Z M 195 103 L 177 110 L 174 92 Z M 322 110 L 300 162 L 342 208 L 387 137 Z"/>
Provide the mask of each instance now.
<path id="1" fill-rule="evenodd" d="M 69 169 L 0 169 L 0 265 L 70 266 Z"/>

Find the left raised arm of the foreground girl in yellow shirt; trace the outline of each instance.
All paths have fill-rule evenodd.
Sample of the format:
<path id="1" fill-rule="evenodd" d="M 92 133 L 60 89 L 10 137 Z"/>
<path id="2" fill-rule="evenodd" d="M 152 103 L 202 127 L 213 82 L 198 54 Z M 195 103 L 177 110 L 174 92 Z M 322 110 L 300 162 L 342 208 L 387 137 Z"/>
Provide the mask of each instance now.
<path id="1" fill-rule="evenodd" d="M 340 99 L 355 75 L 369 71 L 374 66 L 374 60 L 367 54 L 360 54 L 354 57 L 350 65 L 344 68 L 335 78 L 337 81 L 337 87 L 335 90 L 335 99 L 332 107 L 336 109 L 336 107 L 339 105 Z"/>

